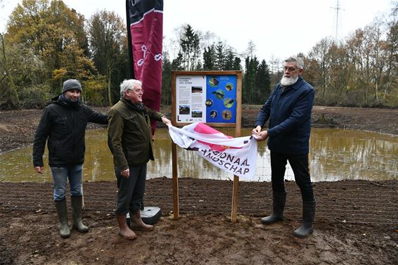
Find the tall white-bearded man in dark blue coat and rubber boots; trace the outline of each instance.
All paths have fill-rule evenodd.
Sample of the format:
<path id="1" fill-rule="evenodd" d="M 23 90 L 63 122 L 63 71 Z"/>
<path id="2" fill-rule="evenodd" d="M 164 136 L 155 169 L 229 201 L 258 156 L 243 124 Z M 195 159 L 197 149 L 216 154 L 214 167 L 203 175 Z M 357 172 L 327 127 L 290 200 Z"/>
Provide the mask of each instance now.
<path id="1" fill-rule="evenodd" d="M 283 66 L 283 78 L 259 111 L 255 129 L 252 131 L 259 141 L 268 138 L 268 148 L 271 152 L 273 212 L 262 219 L 262 224 L 273 224 L 283 219 L 286 200 L 284 175 L 289 161 L 295 174 L 295 181 L 300 187 L 303 202 L 303 223 L 300 228 L 293 231 L 293 235 L 305 238 L 314 230 L 316 203 L 308 163 L 311 112 L 315 91 L 301 77 L 304 71 L 301 58 L 290 57 L 284 61 Z M 262 131 L 268 119 L 269 127 Z"/>

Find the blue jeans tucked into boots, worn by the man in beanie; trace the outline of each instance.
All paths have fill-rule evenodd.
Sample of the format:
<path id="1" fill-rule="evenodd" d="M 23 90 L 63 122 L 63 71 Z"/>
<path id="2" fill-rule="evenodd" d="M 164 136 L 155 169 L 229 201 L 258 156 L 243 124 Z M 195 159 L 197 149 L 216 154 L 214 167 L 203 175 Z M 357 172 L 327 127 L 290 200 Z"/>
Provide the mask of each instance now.
<path id="1" fill-rule="evenodd" d="M 64 200 L 66 195 L 66 181 L 69 179 L 70 195 L 82 196 L 83 164 L 71 167 L 51 167 L 54 181 L 54 200 Z"/>

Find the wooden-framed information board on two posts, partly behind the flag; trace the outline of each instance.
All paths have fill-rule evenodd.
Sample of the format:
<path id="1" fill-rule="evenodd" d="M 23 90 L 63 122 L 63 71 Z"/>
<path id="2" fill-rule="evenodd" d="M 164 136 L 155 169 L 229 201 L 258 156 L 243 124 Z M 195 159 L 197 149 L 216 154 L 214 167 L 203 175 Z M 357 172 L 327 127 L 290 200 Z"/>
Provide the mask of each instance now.
<path id="1" fill-rule="evenodd" d="M 241 71 L 172 71 L 172 124 L 204 122 L 211 127 L 236 127 L 242 118 Z M 176 144 L 172 143 L 174 219 L 179 219 Z M 239 178 L 233 176 L 231 221 L 236 222 Z"/>

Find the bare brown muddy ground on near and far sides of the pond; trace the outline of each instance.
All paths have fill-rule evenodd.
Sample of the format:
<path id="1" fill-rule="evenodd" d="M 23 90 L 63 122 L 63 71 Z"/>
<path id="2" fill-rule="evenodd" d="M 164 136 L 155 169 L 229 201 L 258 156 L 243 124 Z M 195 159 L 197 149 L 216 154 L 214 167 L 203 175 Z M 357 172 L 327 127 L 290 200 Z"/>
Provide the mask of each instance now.
<path id="1" fill-rule="evenodd" d="M 245 106 L 251 126 L 258 106 Z M 164 111 L 168 113 L 167 110 Z M 41 110 L 0 112 L 0 153 L 32 143 Z M 314 127 L 398 135 L 398 110 L 314 107 Z M 33 169 L 32 169 L 33 170 Z M 87 234 L 58 236 L 51 183 L 0 183 L 0 264 L 397 264 L 398 180 L 314 183 L 315 231 L 294 238 L 300 193 L 286 182 L 285 220 L 263 226 L 268 182 L 240 182 L 231 223 L 231 181 L 179 179 L 180 219 L 173 220 L 172 180 L 147 181 L 145 205 L 162 209 L 152 232 L 117 236 L 115 182 L 84 183 Z M 70 218 L 71 219 L 71 218 Z"/>

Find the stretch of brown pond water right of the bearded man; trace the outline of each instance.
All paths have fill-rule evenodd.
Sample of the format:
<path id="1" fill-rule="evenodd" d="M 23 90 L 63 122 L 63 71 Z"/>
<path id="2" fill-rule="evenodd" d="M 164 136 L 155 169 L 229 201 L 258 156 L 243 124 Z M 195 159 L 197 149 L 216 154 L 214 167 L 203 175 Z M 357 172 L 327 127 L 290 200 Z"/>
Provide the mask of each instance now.
<path id="1" fill-rule="evenodd" d="M 398 138 L 366 131 L 316 129 L 311 138 L 317 181 L 398 179 Z"/>

